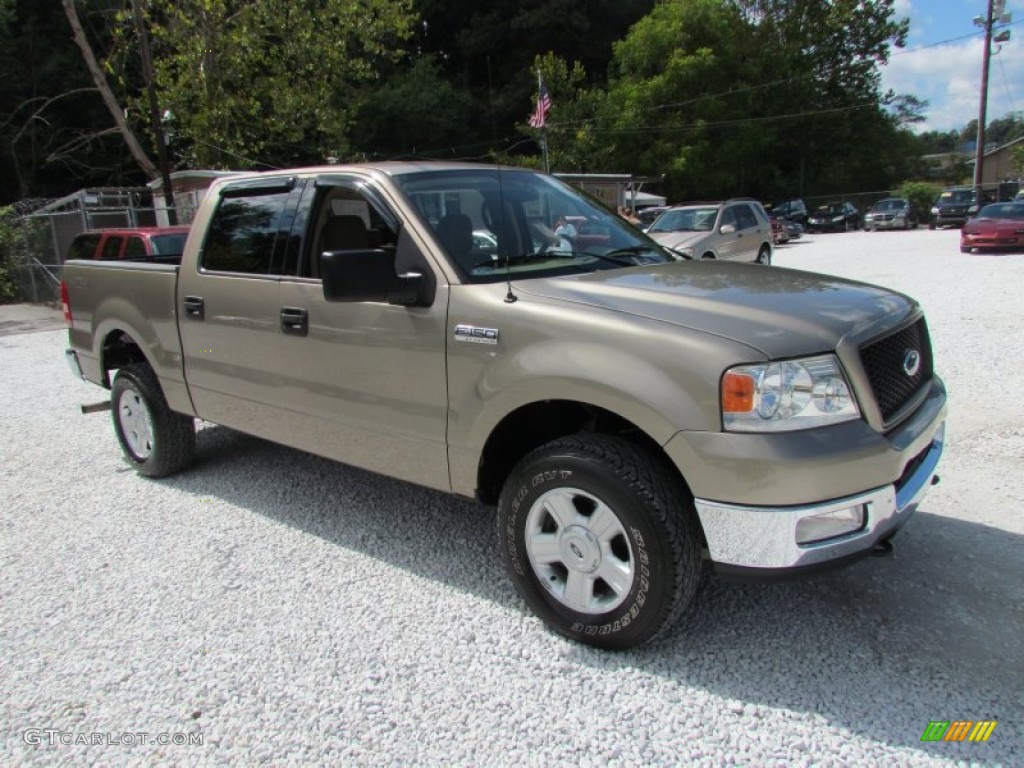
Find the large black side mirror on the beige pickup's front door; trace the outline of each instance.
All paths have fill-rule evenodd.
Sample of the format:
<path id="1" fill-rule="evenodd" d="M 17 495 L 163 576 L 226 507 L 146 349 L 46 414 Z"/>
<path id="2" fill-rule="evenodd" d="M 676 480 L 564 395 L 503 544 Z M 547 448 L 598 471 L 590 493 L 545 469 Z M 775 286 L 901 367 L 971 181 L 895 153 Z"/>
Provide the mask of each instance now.
<path id="1" fill-rule="evenodd" d="M 421 272 L 397 274 L 394 255 L 382 249 L 325 251 L 319 271 L 326 301 L 429 306 L 433 298 Z"/>

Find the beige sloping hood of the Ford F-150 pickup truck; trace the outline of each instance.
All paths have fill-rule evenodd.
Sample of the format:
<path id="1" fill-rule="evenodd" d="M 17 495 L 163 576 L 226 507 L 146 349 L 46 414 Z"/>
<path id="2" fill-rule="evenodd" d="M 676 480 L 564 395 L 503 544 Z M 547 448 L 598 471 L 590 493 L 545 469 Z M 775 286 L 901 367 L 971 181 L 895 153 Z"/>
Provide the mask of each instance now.
<path id="1" fill-rule="evenodd" d="M 916 310 L 907 296 L 759 264 L 680 261 L 523 281 L 517 291 L 714 334 L 769 358 L 835 350 L 840 340 Z"/>

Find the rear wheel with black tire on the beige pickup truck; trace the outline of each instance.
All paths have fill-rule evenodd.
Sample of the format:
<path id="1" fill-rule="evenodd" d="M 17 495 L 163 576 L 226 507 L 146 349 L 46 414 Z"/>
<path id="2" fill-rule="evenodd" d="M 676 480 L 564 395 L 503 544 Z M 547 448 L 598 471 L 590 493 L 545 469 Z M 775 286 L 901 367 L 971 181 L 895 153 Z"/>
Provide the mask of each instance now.
<path id="1" fill-rule="evenodd" d="M 146 477 L 166 477 L 196 457 L 196 420 L 171 411 L 157 375 L 144 364 L 118 371 L 111 387 L 114 432 L 125 460 Z"/>

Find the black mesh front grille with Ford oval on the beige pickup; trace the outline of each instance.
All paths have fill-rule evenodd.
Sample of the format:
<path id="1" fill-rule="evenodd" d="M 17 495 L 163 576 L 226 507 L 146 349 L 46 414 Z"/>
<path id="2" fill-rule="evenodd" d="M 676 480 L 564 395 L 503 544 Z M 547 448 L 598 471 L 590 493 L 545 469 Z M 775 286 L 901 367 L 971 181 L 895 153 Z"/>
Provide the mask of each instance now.
<path id="1" fill-rule="evenodd" d="M 919 356 L 916 370 L 913 352 Z M 932 342 L 925 318 L 864 345 L 860 361 L 888 425 L 932 379 Z"/>

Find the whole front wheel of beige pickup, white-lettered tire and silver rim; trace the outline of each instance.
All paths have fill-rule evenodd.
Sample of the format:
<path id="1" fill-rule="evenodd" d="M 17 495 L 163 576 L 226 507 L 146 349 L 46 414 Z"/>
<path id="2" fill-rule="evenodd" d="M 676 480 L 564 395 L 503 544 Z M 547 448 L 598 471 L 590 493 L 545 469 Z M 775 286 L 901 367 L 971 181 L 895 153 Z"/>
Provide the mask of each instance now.
<path id="1" fill-rule="evenodd" d="M 703 573 L 682 483 L 617 437 L 566 437 L 526 456 L 502 490 L 498 532 L 534 612 L 600 648 L 657 637 L 694 603 Z"/>

